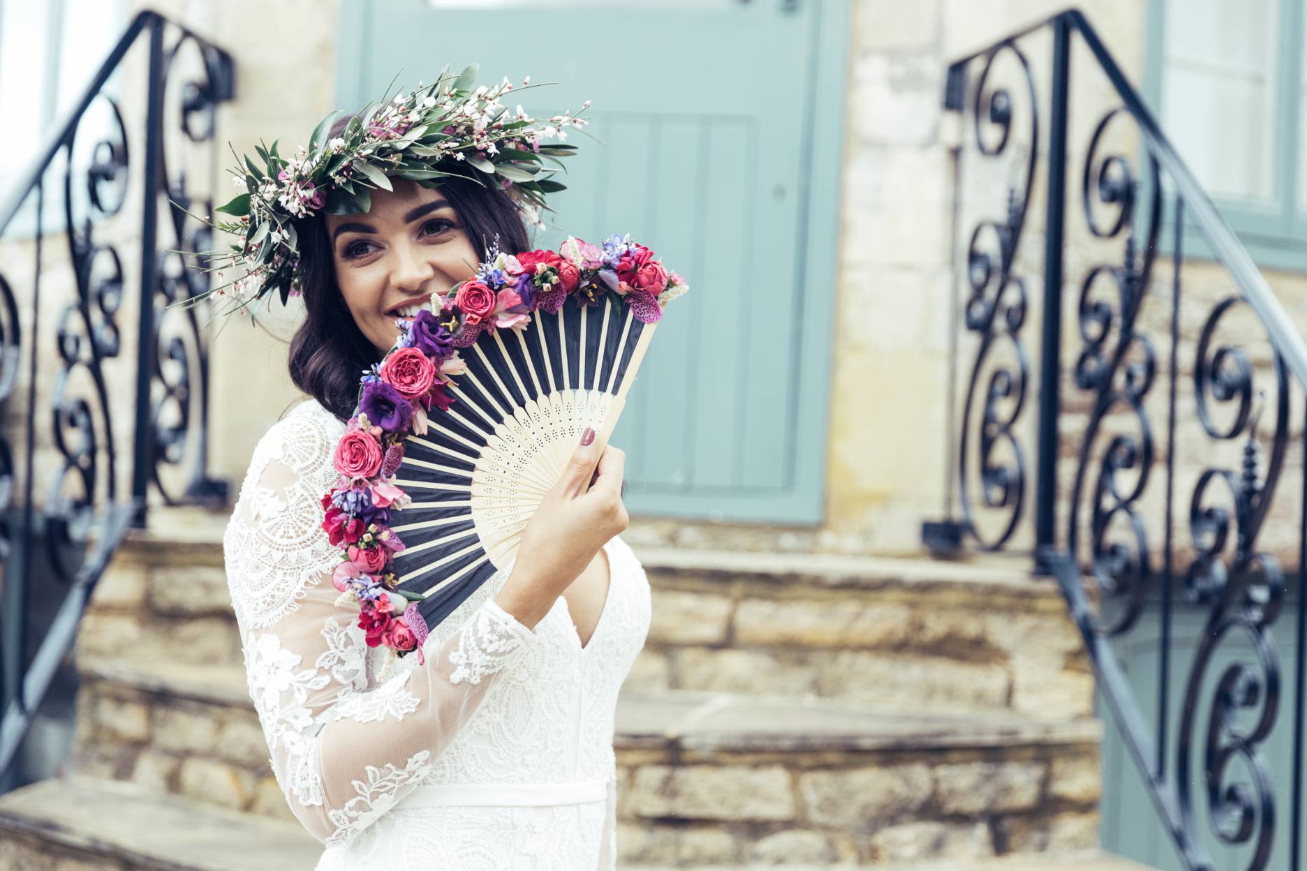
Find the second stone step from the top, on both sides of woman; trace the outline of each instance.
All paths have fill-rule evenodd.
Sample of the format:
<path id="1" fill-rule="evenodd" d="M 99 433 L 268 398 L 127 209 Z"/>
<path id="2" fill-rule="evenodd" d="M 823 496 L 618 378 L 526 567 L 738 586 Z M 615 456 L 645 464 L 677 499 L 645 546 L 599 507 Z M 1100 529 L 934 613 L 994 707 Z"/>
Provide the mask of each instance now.
<path id="1" fill-rule="evenodd" d="M 76 768 L 291 820 L 239 666 L 80 659 Z M 836 862 L 1097 844 L 1097 721 L 623 689 L 627 862 Z"/>

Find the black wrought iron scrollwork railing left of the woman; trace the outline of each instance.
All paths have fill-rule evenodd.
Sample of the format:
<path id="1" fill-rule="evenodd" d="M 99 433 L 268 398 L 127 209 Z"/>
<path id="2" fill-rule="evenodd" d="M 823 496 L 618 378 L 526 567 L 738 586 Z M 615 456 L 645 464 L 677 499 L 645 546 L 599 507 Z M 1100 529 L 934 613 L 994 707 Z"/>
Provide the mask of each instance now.
<path id="1" fill-rule="evenodd" d="M 132 81 L 133 50 L 144 93 L 119 101 L 107 85 L 115 76 Z M 13 191 L 0 192 L 0 245 L 10 252 L 0 265 L 0 780 L 73 644 L 97 580 L 128 529 L 145 525 L 146 505 L 226 503 L 225 482 L 207 473 L 203 308 L 169 307 L 208 289 L 208 273 L 187 269 L 180 252 L 213 248 L 209 230 L 188 214 L 210 212 L 212 187 L 197 195 L 188 175 L 193 180 L 193 165 L 204 163 L 214 182 L 216 108 L 233 95 L 233 73 L 221 48 L 158 13 L 139 13 Z M 124 123 L 124 110 L 144 110 L 141 120 Z M 93 129 L 88 146 L 94 114 L 110 129 Z M 68 259 L 58 264 L 43 251 L 55 247 L 46 239 L 48 187 L 63 200 Z M 18 239 L 14 227 L 27 215 L 31 230 Z M 14 252 L 27 251 L 31 277 L 21 286 L 4 273 L 13 276 Z M 136 291 L 128 287 L 133 265 Z M 44 287 L 42 277 L 51 274 L 72 277 L 67 302 Z M 41 332 L 43 300 L 60 308 L 50 342 Z M 137 315 L 136 347 L 135 359 L 119 360 L 124 313 Z M 24 375 L 26 396 L 14 396 Z M 125 452 L 115 419 L 133 422 Z M 21 445 L 12 444 L 14 431 Z M 37 481 L 38 453 L 50 466 L 46 481 Z M 127 456 L 129 486 L 116 466 Z M 38 575 L 41 598 L 58 590 L 63 602 L 33 652 L 29 606 Z"/>

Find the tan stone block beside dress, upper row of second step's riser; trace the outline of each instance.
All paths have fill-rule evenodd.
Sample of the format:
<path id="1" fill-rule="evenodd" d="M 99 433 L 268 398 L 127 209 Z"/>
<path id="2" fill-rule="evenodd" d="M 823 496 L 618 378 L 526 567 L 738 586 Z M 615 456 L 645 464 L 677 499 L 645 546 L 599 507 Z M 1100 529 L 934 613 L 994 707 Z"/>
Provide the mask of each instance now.
<path id="1" fill-rule="evenodd" d="M 635 770 L 626 808 L 646 819 L 775 821 L 793 819 L 795 797 L 780 765 L 644 765 Z"/>

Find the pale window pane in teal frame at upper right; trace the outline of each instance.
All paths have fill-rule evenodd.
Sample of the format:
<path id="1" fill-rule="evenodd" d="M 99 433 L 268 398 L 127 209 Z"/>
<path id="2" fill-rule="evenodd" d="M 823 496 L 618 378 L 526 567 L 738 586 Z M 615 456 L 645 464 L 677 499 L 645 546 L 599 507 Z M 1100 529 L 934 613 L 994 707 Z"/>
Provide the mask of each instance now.
<path id="1" fill-rule="evenodd" d="M 1274 198 L 1280 0 L 1166 0 L 1162 127 L 1214 196 Z"/>

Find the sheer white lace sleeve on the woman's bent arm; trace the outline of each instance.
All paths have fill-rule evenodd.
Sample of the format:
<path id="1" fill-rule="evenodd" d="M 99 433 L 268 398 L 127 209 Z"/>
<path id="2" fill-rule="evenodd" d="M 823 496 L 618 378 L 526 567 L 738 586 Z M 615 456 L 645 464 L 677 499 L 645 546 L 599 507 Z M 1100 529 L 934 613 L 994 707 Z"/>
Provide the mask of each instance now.
<path id="1" fill-rule="evenodd" d="M 273 773 L 291 811 L 328 846 L 408 794 L 537 640 L 488 599 L 443 644 L 429 640 L 425 665 L 409 654 L 380 666 L 389 654 L 367 648 L 357 614 L 335 603 L 340 556 L 320 526 L 342 431 L 332 424 L 297 409 L 269 430 L 223 538 Z"/>

